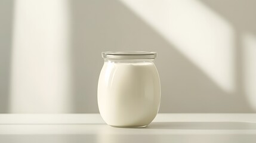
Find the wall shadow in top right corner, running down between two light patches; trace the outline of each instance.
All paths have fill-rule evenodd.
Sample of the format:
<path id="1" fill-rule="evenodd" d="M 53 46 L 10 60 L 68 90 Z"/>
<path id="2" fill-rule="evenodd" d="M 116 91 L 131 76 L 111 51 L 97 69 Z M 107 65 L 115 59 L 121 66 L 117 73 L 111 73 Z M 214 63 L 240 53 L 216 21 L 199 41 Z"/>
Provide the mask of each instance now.
<path id="1" fill-rule="evenodd" d="M 243 53 L 243 43 L 242 36 L 245 33 L 251 33 L 256 35 L 256 17 L 255 17 L 255 5 L 256 1 L 201 1 L 208 8 L 211 8 L 212 11 L 222 15 L 226 18 L 227 21 L 232 23 L 233 27 L 236 30 L 236 39 L 235 39 L 235 94 L 239 95 L 241 98 L 245 98 L 247 104 L 249 102 L 246 98 L 245 92 L 245 71 L 244 71 L 244 53 Z M 255 110 L 252 109 L 252 113 L 255 113 Z"/>

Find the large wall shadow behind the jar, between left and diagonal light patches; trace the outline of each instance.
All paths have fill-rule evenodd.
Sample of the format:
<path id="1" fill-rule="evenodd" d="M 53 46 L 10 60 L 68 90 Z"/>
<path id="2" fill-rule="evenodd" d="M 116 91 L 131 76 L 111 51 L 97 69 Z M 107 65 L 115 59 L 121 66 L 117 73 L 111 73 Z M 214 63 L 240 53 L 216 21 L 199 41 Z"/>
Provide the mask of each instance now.
<path id="1" fill-rule="evenodd" d="M 198 66 L 122 2 L 70 1 L 73 113 L 98 113 L 102 51 L 157 51 L 161 113 L 253 112 L 240 92 L 220 89 Z M 237 44 L 237 43 L 235 43 Z M 239 89 L 242 90 L 242 89 Z"/>

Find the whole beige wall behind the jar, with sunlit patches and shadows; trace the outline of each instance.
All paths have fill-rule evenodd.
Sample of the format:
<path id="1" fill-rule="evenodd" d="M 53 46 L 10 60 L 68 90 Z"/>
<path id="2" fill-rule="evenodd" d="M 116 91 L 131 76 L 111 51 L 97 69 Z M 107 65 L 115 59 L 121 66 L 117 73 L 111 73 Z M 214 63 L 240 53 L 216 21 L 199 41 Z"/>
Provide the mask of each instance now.
<path id="1" fill-rule="evenodd" d="M 136 50 L 158 52 L 161 113 L 255 113 L 255 5 L 1 1 L 0 112 L 98 113 L 101 51 Z"/>

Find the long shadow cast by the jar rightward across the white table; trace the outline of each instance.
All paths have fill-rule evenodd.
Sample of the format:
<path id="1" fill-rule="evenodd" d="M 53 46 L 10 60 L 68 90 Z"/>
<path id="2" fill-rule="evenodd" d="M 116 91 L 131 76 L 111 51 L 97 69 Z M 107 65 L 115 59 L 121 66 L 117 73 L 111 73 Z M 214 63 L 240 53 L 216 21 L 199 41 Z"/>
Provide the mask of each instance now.
<path id="1" fill-rule="evenodd" d="M 146 129 L 205 129 L 205 130 L 243 130 L 256 129 L 252 122 L 153 122 Z"/>

